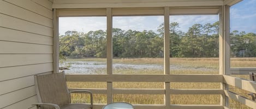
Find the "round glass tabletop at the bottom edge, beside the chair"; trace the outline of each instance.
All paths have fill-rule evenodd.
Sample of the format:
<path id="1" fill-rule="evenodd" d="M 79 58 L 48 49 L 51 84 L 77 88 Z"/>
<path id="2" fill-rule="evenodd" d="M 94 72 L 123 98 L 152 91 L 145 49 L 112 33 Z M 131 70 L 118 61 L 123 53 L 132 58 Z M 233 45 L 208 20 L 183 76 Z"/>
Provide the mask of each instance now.
<path id="1" fill-rule="evenodd" d="M 134 109 L 133 105 L 127 102 L 113 102 L 111 104 L 105 105 L 102 109 Z"/>

